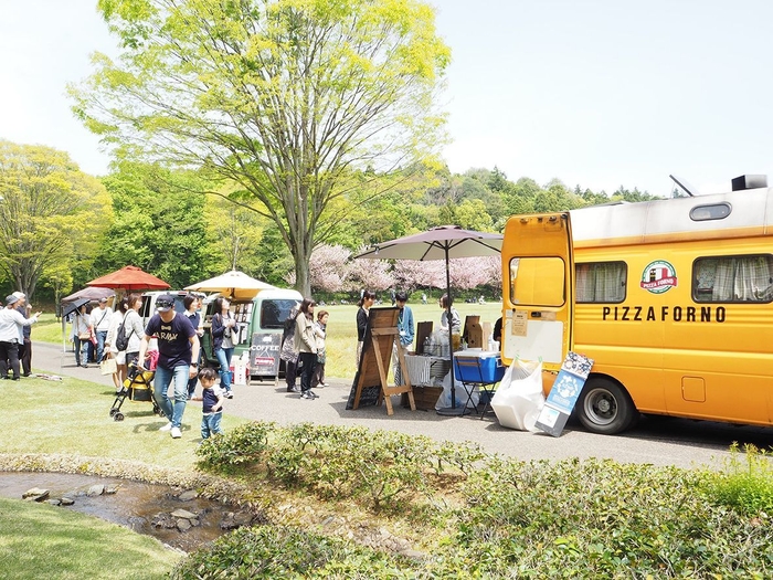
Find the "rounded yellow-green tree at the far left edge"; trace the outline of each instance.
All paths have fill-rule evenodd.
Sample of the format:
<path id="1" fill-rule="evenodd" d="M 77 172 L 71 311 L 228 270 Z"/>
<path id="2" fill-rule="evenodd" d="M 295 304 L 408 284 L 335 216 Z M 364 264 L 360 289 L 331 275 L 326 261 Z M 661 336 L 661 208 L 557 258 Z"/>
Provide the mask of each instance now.
<path id="1" fill-rule="evenodd" d="M 110 224 L 105 188 L 63 151 L 0 141 L 0 272 L 29 296 L 46 273 L 70 289 Z"/>

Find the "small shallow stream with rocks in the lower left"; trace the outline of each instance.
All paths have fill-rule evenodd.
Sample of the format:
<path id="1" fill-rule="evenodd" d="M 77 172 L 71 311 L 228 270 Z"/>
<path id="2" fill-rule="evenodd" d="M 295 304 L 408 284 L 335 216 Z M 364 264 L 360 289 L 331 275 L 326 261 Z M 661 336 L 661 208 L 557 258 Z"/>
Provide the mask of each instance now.
<path id="1" fill-rule="evenodd" d="M 86 495 L 94 485 L 117 489 L 114 494 Z M 183 496 L 181 499 L 180 492 L 162 485 L 93 475 L 0 472 L 0 497 L 21 499 L 22 494 L 35 487 L 50 491 L 49 499 L 68 497 L 74 500 L 71 506 L 61 506 L 62 509 L 75 509 L 113 521 L 138 534 L 153 536 L 163 544 L 186 552 L 225 534 L 227 530 L 222 529 L 221 525 L 225 523 L 229 527 L 233 520 L 233 513 L 237 510 L 201 497 L 186 500 Z M 194 524 L 184 531 L 178 529 L 174 525 L 177 519 L 170 516 L 179 509 L 198 516 Z M 237 514 L 236 519 L 248 523 L 244 513 Z"/>

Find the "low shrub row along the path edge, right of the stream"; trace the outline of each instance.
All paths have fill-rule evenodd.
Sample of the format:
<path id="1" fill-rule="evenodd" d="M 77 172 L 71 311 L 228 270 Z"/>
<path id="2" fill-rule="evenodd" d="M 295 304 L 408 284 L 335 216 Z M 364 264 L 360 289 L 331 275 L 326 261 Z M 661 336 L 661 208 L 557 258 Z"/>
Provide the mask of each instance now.
<path id="1" fill-rule="evenodd" d="M 354 498 L 393 508 L 431 491 L 427 475 L 464 475 L 485 457 L 479 445 L 437 445 L 425 436 L 366 428 L 252 422 L 207 440 L 199 466 L 223 474 L 250 471 L 322 499 Z"/>

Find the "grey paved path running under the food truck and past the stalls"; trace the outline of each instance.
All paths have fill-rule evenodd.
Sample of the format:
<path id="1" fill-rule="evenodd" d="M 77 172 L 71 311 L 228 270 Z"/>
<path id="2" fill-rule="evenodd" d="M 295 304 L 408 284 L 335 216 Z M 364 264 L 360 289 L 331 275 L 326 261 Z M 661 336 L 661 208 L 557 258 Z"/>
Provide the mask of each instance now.
<path id="1" fill-rule="evenodd" d="M 113 384 L 110 377 L 99 375 L 98 367 L 75 367 L 73 352 L 62 354 L 61 345 L 34 344 L 33 370 L 77 377 L 102 384 Z M 632 431 L 618 436 L 595 435 L 580 426 L 571 426 L 561 437 L 501 428 L 494 414 L 483 421 L 476 415 L 441 416 L 434 411 L 411 411 L 393 398 L 394 414 L 381 407 L 347 411 L 351 379 L 328 379 L 329 387 L 319 389 L 319 399 L 301 400 L 287 393 L 283 383 L 253 382 L 235 386 L 234 399 L 226 401 L 225 412 L 233 415 L 279 424 L 310 421 L 336 425 L 364 425 L 426 435 L 437 441 L 473 441 L 489 453 L 521 460 L 603 457 L 624 463 L 652 463 L 691 467 L 716 464 L 727 456 L 733 441 L 754 441 L 758 446 L 773 444 L 773 430 L 734 428 L 711 422 L 669 418 L 645 418 Z M 198 429 L 199 414 L 186 413 L 186 423 Z M 191 419 L 194 416 L 194 419 Z"/>

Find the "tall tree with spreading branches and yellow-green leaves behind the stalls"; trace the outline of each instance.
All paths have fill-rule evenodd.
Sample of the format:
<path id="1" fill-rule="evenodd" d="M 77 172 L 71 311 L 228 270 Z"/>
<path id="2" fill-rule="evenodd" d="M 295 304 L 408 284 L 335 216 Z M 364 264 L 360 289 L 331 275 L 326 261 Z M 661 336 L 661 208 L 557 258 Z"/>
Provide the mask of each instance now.
<path id="1" fill-rule="evenodd" d="M 419 0 L 99 0 L 118 62 L 73 87 L 121 155 L 195 166 L 261 202 L 296 285 L 328 204 L 356 169 L 436 151 L 448 63 Z"/>

